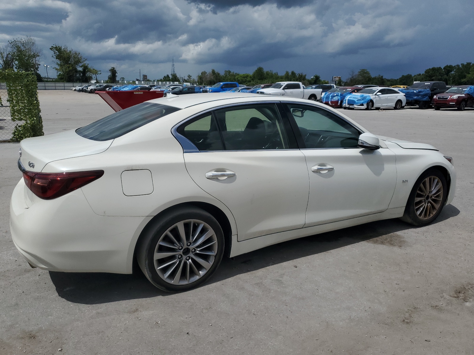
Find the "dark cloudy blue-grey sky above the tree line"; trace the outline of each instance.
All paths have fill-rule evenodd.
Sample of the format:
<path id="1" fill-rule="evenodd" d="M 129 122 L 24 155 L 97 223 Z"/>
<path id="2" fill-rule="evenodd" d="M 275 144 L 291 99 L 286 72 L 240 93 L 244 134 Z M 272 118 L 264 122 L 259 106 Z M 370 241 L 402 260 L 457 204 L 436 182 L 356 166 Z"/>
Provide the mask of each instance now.
<path id="1" fill-rule="evenodd" d="M 351 70 L 400 77 L 474 62 L 474 17 L 465 0 L 1 0 L 0 45 L 29 35 L 66 44 L 101 70 L 132 80 L 214 68 L 303 72 L 323 79 Z M 41 74 L 46 75 L 44 68 Z M 51 73 L 50 73 L 51 76 Z"/>

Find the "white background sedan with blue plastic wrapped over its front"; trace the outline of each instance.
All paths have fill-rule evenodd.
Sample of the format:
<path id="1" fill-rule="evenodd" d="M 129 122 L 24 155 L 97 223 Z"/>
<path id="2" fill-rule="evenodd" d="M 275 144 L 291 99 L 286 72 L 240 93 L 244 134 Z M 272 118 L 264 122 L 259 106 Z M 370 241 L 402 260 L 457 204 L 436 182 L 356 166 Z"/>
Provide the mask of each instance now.
<path id="1" fill-rule="evenodd" d="M 357 93 L 346 96 L 342 108 L 365 108 L 374 107 L 379 110 L 381 107 L 393 107 L 399 110 L 405 107 L 407 100 L 405 94 L 392 88 L 366 88 Z"/>

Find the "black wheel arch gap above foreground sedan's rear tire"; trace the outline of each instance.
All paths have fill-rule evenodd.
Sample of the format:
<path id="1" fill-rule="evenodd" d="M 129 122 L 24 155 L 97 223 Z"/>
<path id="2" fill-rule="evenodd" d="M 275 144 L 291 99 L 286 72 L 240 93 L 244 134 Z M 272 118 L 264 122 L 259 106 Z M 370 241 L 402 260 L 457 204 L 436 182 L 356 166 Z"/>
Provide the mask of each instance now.
<path id="1" fill-rule="evenodd" d="M 230 251 L 232 249 L 232 225 L 231 222 L 228 219 L 228 216 L 224 211 L 222 211 L 219 207 L 216 205 L 207 203 L 207 202 L 201 202 L 201 201 L 189 201 L 189 202 L 183 202 L 180 204 L 174 204 L 173 206 L 165 208 L 163 211 L 160 213 L 156 214 L 153 216 L 148 222 L 146 222 L 146 225 L 142 228 L 140 231 L 137 240 L 135 240 L 135 244 L 133 245 L 133 258 L 132 260 L 129 261 L 128 267 L 131 268 L 133 272 L 136 270 L 138 271 L 140 267 L 138 266 L 137 263 L 137 246 L 139 245 L 140 241 L 142 240 L 147 228 L 154 223 L 157 219 L 159 219 L 161 216 L 163 216 L 165 213 L 168 213 L 172 210 L 178 210 L 180 207 L 184 206 L 194 206 L 201 208 L 202 210 L 206 211 L 210 215 L 212 215 L 217 222 L 219 222 L 222 231 L 224 233 L 224 240 L 225 240 L 225 248 L 224 248 L 224 255 L 229 256 Z M 130 265 L 131 262 L 131 265 Z"/>

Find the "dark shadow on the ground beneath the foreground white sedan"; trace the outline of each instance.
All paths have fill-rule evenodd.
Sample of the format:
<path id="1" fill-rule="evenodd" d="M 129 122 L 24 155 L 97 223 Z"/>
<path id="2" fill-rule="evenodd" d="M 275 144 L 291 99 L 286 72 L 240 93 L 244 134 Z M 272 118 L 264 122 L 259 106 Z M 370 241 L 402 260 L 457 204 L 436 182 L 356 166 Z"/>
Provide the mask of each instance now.
<path id="1" fill-rule="evenodd" d="M 455 206 L 447 205 L 433 224 L 443 222 L 459 213 Z M 399 219 L 370 222 L 289 240 L 237 257 L 224 257 L 216 273 L 206 284 L 364 241 L 401 248 L 405 242 L 397 232 L 413 228 L 417 227 L 401 222 Z M 173 294 L 155 288 L 139 269 L 132 275 L 53 271 L 50 271 L 49 275 L 58 295 L 74 303 L 100 304 Z"/>

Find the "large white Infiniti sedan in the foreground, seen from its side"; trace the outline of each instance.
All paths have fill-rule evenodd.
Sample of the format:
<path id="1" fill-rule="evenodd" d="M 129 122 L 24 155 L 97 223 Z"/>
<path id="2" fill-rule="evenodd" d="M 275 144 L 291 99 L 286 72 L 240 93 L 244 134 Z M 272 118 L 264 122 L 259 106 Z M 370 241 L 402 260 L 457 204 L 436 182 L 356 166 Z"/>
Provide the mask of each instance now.
<path id="1" fill-rule="evenodd" d="M 20 143 L 10 229 L 35 267 L 130 274 L 165 291 L 204 283 L 223 255 L 357 224 L 434 221 L 450 157 L 375 136 L 304 99 L 169 95 Z"/>

